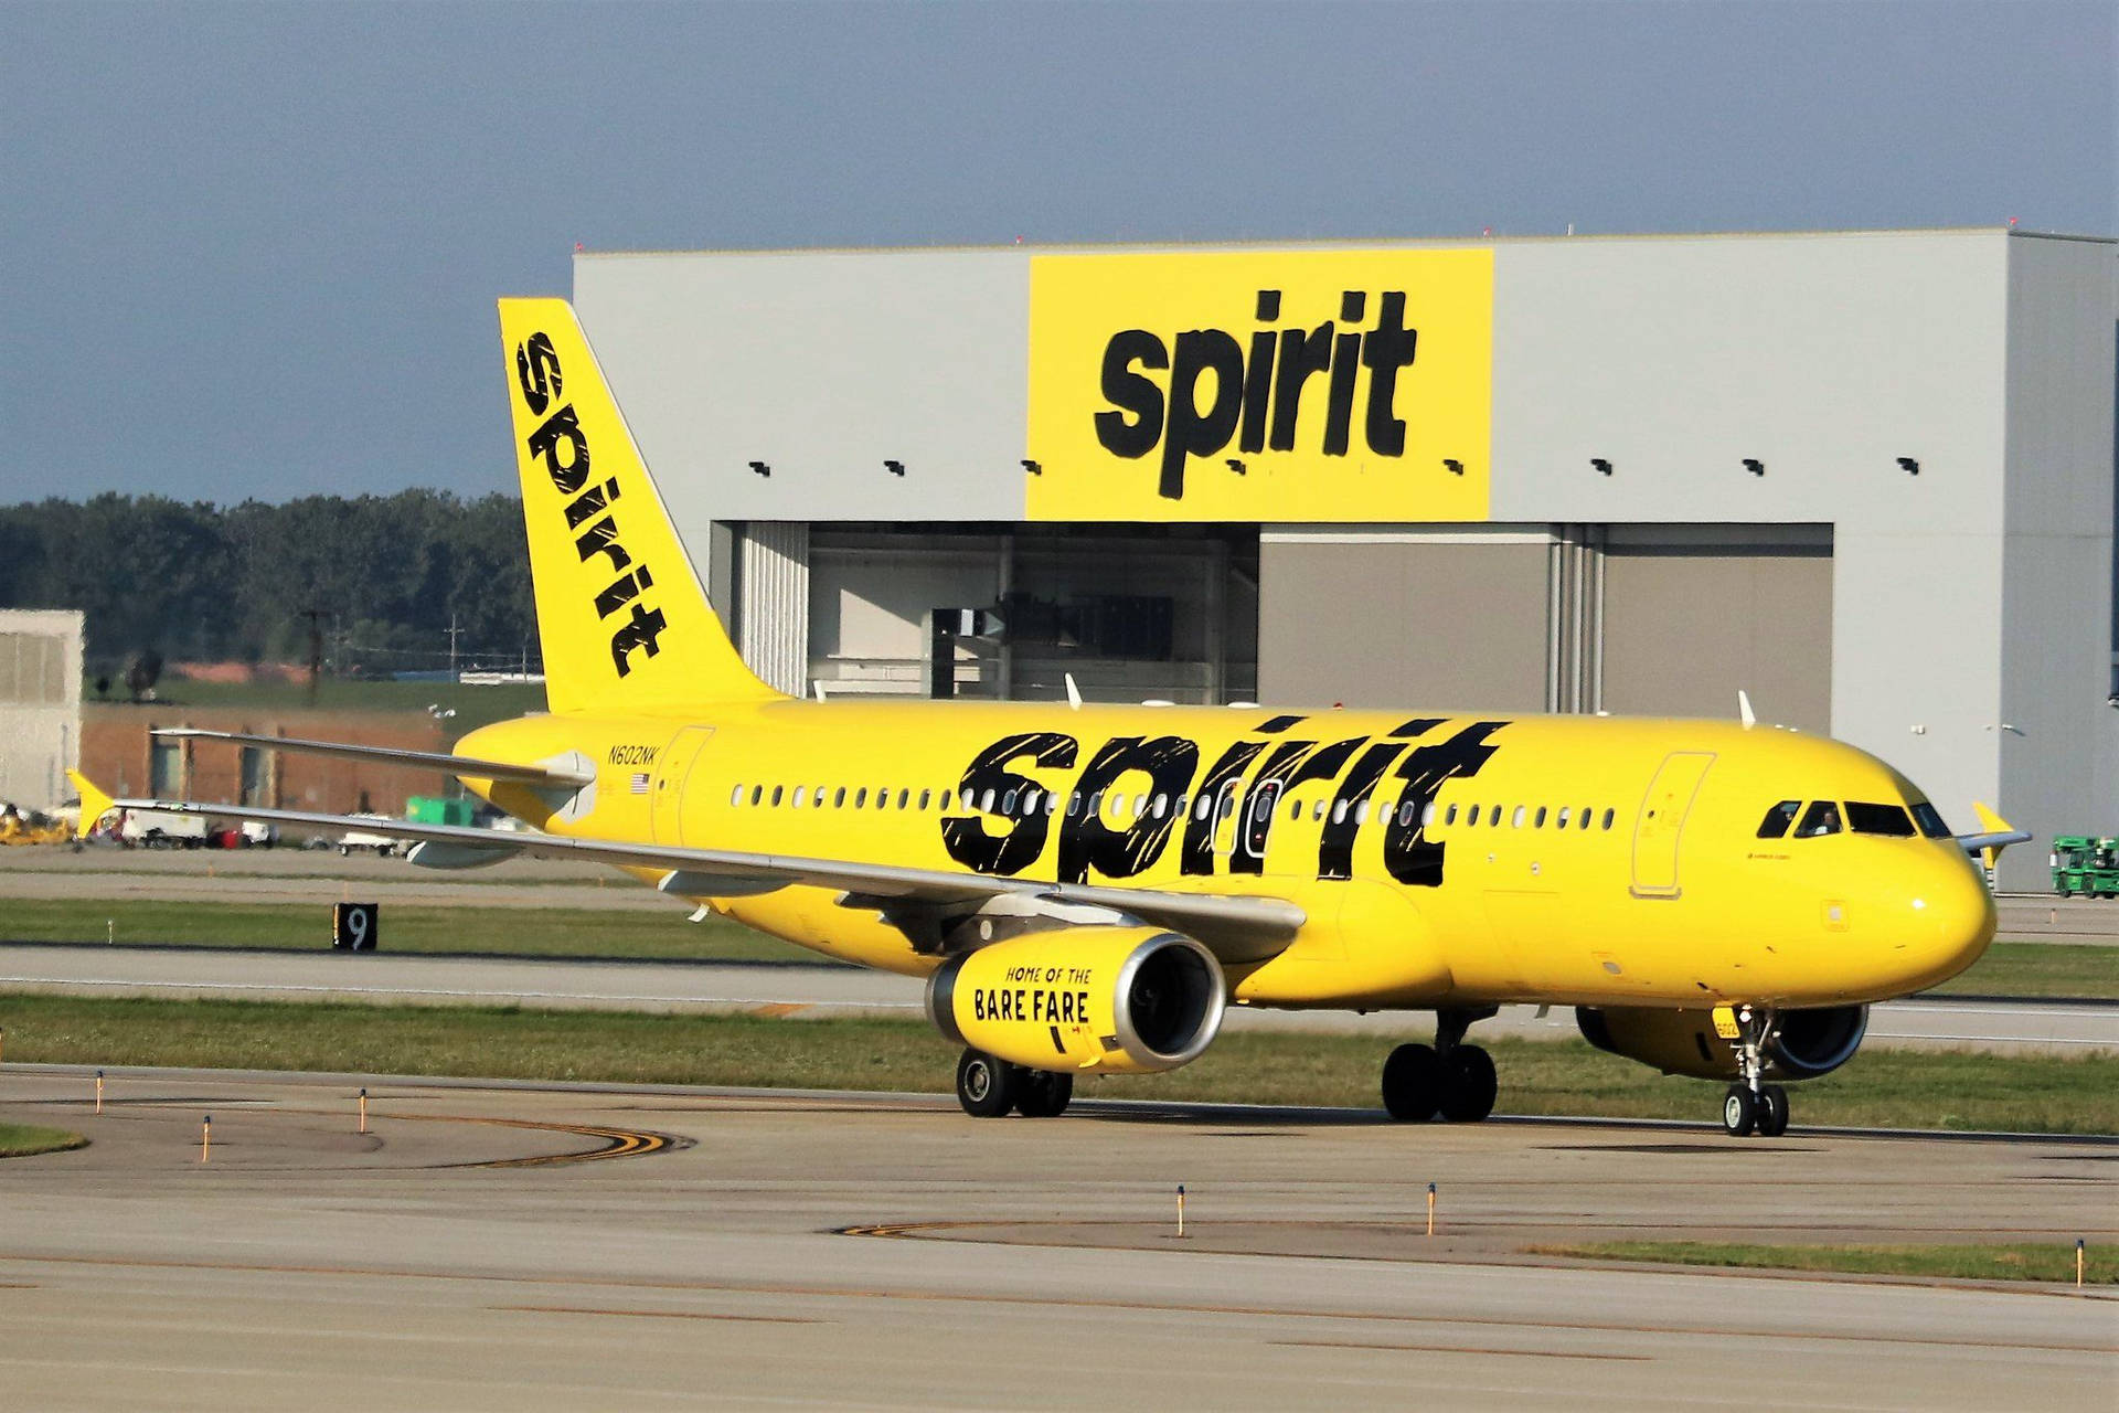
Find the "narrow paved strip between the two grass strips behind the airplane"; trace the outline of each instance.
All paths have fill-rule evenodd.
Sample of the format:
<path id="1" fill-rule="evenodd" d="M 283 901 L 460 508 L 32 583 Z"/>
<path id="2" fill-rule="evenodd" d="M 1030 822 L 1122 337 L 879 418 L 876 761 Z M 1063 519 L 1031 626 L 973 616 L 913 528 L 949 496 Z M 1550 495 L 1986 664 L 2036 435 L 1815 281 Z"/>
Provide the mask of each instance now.
<path id="1" fill-rule="evenodd" d="M 91 996 L 233 996 L 390 1004 L 526 1004 L 598 1010 L 765 1010 L 773 1015 L 922 1015 L 922 983 L 850 966 L 740 962 L 578 962 L 538 958 L 350 955 L 220 947 L 0 945 L 0 987 Z M 1229 1010 L 1231 1030 L 1403 1036 L 1424 1013 Z M 1566 1006 L 1504 1006 L 1483 1036 L 1566 1038 Z M 1873 1006 L 1880 1047 L 2119 1051 L 2119 1004 L 1913 998 Z"/>

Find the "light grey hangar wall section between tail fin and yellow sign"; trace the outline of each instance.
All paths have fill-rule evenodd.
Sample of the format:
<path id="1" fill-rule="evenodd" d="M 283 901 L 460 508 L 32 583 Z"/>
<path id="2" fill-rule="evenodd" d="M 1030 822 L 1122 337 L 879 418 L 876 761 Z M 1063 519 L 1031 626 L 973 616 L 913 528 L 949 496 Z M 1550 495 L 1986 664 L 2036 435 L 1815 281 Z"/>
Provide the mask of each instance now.
<path id="1" fill-rule="evenodd" d="M 1026 261 L 585 254 L 574 305 L 687 544 L 712 519 L 1009 521 L 1023 517 Z"/>

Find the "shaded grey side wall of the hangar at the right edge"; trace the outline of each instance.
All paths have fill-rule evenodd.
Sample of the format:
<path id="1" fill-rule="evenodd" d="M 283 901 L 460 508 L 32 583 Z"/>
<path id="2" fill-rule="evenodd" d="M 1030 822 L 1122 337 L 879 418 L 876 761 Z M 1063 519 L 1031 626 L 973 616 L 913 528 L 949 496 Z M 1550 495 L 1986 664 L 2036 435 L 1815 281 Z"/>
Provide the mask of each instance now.
<path id="1" fill-rule="evenodd" d="M 2041 837 L 2119 830 L 2113 733 L 2113 494 L 2119 250 L 2009 242 L 2009 455 L 2000 807 Z M 2043 883 L 2015 849 L 2009 886 Z"/>

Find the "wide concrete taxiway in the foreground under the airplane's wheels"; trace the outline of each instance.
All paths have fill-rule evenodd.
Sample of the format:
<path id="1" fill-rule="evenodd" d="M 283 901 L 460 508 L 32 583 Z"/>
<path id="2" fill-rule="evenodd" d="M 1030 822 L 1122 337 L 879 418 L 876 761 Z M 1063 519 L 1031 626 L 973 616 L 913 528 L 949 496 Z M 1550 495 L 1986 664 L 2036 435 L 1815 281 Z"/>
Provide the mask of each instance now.
<path id="1" fill-rule="evenodd" d="M 119 1072 L 95 1116 L 85 1080 L 0 1070 L 0 1116 L 93 1138 L 0 1167 L 17 1407 L 1933 1411 L 2119 1394 L 2111 1288 L 1524 1250 L 1735 1233 L 2085 1235 L 2102 1252 L 2119 1237 L 2108 1140 L 1731 1144 L 1691 1125 L 1155 1104 L 979 1123 L 909 1095 L 229 1072 Z M 659 1148 L 589 1157 L 610 1135 Z"/>

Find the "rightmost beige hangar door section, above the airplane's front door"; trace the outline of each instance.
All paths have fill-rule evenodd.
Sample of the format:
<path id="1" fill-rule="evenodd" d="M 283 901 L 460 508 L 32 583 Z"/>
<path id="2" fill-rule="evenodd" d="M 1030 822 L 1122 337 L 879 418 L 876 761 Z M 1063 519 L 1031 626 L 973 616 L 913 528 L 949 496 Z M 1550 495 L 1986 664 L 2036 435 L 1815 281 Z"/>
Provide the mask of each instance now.
<path id="1" fill-rule="evenodd" d="M 1613 525 L 1602 710 L 1727 718 L 1738 691 L 1759 720 L 1831 731 L 1831 527 Z"/>

